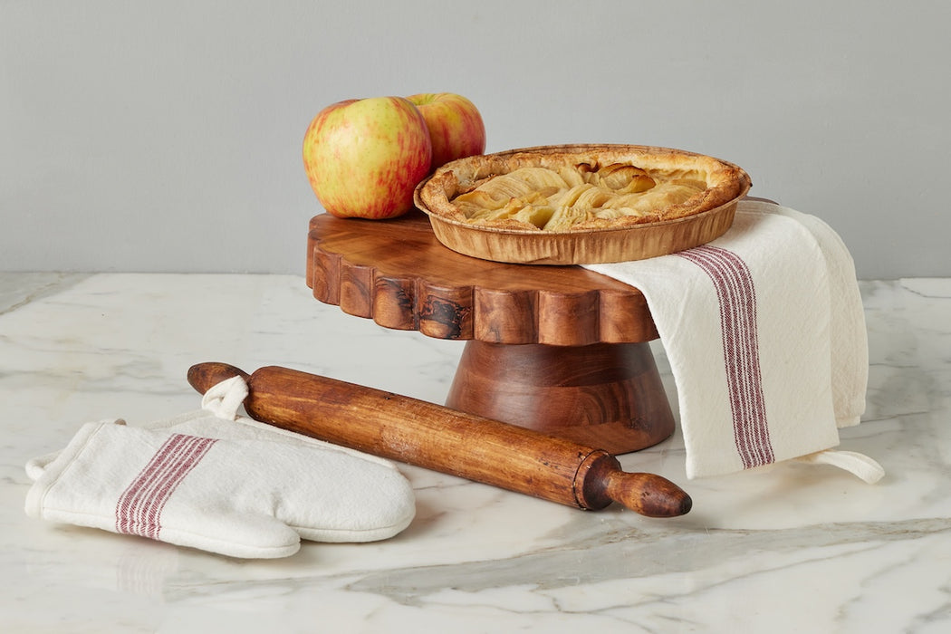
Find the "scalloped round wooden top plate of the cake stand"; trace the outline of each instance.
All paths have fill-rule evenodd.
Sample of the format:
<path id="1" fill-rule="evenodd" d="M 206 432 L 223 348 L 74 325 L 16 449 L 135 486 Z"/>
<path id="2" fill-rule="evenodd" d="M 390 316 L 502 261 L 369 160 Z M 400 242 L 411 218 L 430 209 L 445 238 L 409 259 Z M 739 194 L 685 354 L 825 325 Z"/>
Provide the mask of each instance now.
<path id="1" fill-rule="evenodd" d="M 379 325 L 490 343 L 650 341 L 644 295 L 579 266 L 470 258 L 436 239 L 422 212 L 390 221 L 310 221 L 307 285 L 314 297 Z"/>

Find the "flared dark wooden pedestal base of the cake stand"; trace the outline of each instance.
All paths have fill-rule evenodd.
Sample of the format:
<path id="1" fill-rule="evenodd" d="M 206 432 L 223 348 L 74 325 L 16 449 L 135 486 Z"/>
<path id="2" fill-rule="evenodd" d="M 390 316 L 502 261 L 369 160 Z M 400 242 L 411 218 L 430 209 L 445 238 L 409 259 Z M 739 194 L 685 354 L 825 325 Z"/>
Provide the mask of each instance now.
<path id="1" fill-rule="evenodd" d="M 546 346 L 470 341 L 446 405 L 611 453 L 656 445 L 674 431 L 647 343 Z"/>

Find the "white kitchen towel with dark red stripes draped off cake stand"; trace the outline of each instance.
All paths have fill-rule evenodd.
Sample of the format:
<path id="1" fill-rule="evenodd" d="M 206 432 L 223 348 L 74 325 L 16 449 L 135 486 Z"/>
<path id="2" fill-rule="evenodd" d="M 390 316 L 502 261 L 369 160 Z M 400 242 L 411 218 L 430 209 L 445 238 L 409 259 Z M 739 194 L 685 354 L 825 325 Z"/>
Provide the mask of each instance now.
<path id="1" fill-rule="evenodd" d="M 586 267 L 647 298 L 677 388 L 689 478 L 789 459 L 882 477 L 867 456 L 832 451 L 839 428 L 864 412 L 868 346 L 852 258 L 825 222 L 743 201 L 708 244 Z"/>

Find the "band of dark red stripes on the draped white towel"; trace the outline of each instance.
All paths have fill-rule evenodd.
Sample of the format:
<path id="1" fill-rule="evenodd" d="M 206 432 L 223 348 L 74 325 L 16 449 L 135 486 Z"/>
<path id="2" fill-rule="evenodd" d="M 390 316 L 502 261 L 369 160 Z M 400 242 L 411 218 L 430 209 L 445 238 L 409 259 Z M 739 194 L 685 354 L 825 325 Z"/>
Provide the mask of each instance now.
<path id="1" fill-rule="evenodd" d="M 760 371 L 756 289 L 747 263 L 727 249 L 709 245 L 677 255 L 699 266 L 716 289 L 733 438 L 743 467 L 769 464 L 773 450 Z"/>

